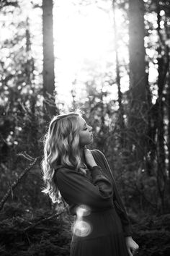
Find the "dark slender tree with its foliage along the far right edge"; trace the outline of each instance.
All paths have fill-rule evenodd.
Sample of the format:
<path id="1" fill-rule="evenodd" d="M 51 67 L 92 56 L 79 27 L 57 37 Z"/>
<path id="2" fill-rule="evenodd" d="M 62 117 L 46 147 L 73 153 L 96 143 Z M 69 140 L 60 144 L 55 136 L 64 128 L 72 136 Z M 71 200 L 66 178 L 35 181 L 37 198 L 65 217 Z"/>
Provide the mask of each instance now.
<path id="1" fill-rule="evenodd" d="M 167 5 L 167 6 L 166 6 Z M 169 17 L 169 1 L 163 3 L 161 1 L 153 2 L 154 12 L 157 15 L 157 28 L 156 32 L 158 35 L 158 43 L 156 47 L 157 59 L 156 63 L 158 65 L 158 97 L 156 103 L 153 104 L 150 116 L 153 123 L 151 129 L 151 137 L 154 142 L 152 150 L 153 157 L 155 156 L 157 160 L 157 170 L 156 178 L 158 185 L 158 193 L 161 198 L 161 210 L 166 211 L 166 187 L 168 186 L 168 176 L 166 172 L 166 155 L 169 152 L 166 150 L 166 133 L 169 135 L 169 127 L 166 127 L 165 123 L 167 119 L 169 120 L 169 85 L 168 85 L 168 75 L 169 75 L 169 46 L 166 43 L 167 37 L 169 36 L 167 28 L 167 21 Z M 167 8 L 167 9 L 166 9 Z M 161 10 L 165 10 L 165 16 L 161 17 Z M 167 16 L 166 16 L 167 15 Z M 164 21 L 164 28 L 161 23 Z M 166 34 L 167 33 L 167 34 Z M 166 110 L 167 108 L 167 110 Z M 166 114 L 166 112 L 168 112 Z M 167 132 L 166 132 L 167 130 Z M 167 142 L 168 145 L 169 142 Z M 169 151 L 169 147 L 168 147 Z M 152 157 L 152 158 L 153 158 Z M 167 159 L 169 161 L 169 158 Z"/>

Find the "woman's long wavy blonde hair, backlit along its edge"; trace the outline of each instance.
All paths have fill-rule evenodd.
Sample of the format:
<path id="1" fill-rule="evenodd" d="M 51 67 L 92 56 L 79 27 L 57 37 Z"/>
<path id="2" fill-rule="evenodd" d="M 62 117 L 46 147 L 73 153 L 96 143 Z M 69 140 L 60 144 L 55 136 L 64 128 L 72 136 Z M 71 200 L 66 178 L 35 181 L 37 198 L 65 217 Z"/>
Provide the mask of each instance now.
<path id="1" fill-rule="evenodd" d="M 79 150 L 79 113 L 68 113 L 53 117 L 44 140 L 44 158 L 42 160 L 42 178 L 45 189 L 52 202 L 61 200 L 55 182 L 55 171 L 63 167 L 72 167 L 85 173 L 81 168 Z"/>

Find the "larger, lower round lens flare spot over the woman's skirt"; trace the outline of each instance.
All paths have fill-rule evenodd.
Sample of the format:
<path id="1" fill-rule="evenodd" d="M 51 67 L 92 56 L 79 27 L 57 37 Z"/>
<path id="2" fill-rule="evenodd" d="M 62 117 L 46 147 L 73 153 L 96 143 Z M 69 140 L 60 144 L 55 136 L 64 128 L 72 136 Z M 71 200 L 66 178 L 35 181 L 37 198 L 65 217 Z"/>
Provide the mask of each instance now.
<path id="1" fill-rule="evenodd" d="M 88 236 L 91 233 L 91 226 L 86 221 L 76 221 L 73 225 L 73 234 L 76 236 Z"/>

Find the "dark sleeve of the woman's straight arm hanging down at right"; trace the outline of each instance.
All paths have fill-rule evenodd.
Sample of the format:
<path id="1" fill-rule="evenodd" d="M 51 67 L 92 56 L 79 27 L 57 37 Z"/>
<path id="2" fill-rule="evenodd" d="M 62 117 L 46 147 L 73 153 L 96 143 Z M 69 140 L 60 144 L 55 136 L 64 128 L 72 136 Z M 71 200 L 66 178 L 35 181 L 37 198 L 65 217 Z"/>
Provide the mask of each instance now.
<path id="1" fill-rule="evenodd" d="M 115 179 L 113 178 L 112 171 L 109 167 L 109 163 L 107 162 L 107 159 L 105 158 L 104 154 L 99 150 L 92 150 L 93 155 L 97 163 L 103 163 L 105 166 L 105 169 L 107 170 L 107 175 L 111 178 L 112 184 L 113 184 L 113 202 L 115 205 L 115 209 L 117 211 L 117 214 L 120 216 L 120 220 L 122 222 L 122 229 L 124 231 L 125 236 L 131 236 L 132 234 L 132 228 L 130 225 L 130 221 L 128 219 L 125 207 L 122 203 L 120 194 L 117 189 L 117 185 L 115 183 Z M 102 159 L 102 161 L 101 161 Z"/>

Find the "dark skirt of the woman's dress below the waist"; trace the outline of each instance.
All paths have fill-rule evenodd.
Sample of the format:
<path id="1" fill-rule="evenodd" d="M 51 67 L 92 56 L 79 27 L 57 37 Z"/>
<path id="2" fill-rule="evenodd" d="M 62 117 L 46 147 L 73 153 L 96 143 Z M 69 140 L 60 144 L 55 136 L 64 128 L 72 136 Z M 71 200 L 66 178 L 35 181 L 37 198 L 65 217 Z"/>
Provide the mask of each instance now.
<path id="1" fill-rule="evenodd" d="M 83 221 L 89 223 L 91 232 L 85 236 L 73 234 L 71 256 L 128 256 L 122 223 L 115 208 L 90 213 Z"/>

